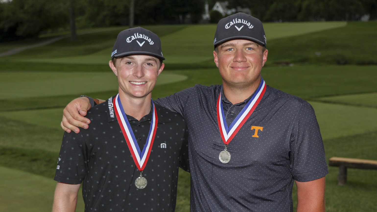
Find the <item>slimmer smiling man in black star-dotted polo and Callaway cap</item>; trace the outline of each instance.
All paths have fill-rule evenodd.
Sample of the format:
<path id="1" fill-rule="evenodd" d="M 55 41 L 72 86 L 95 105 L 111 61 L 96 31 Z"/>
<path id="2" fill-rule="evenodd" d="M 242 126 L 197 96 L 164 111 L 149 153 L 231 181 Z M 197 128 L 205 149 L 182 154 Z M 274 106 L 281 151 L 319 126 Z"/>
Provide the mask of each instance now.
<path id="1" fill-rule="evenodd" d="M 159 37 L 126 29 L 111 57 L 119 93 L 88 111 L 89 129 L 64 134 L 53 211 L 75 211 L 82 183 L 85 211 L 173 212 L 180 162 L 188 171 L 187 128 L 151 99 L 164 69 Z"/>

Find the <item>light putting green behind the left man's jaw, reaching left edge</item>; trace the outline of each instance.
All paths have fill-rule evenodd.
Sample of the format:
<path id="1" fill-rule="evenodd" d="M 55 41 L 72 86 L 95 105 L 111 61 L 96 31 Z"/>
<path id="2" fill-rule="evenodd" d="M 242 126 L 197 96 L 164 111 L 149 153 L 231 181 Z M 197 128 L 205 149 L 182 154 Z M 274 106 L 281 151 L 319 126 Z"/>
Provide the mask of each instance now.
<path id="1" fill-rule="evenodd" d="M 162 72 L 157 85 L 186 80 L 187 76 Z M 108 72 L 2 72 L 0 99 L 45 97 L 87 92 L 115 91 L 118 82 Z"/>

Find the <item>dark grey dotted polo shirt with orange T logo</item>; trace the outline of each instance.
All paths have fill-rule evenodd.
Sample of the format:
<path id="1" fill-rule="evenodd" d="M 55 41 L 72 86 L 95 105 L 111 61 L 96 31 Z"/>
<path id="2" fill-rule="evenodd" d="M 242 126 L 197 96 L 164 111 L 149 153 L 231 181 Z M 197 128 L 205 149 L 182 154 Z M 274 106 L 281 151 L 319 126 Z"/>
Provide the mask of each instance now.
<path id="1" fill-rule="evenodd" d="M 267 86 L 254 112 L 230 141 L 228 163 L 219 160 L 216 102 L 222 85 L 185 89 L 155 102 L 180 113 L 189 129 L 192 212 L 293 211 L 294 180 L 328 174 L 322 137 L 312 106 Z M 223 92 L 222 92 L 223 93 Z M 248 99 L 222 104 L 228 126 Z"/>

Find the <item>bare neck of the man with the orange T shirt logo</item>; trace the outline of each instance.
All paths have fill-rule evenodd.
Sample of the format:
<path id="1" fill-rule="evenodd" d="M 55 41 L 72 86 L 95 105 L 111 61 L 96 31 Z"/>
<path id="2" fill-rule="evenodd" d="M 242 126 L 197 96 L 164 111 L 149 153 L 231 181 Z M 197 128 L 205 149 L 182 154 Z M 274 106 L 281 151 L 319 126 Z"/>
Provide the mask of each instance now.
<path id="1" fill-rule="evenodd" d="M 258 88 L 259 83 L 253 83 L 250 86 L 232 86 L 227 83 L 222 83 L 222 88 L 224 90 L 224 95 L 232 104 L 237 104 L 245 99 L 249 98 Z"/>

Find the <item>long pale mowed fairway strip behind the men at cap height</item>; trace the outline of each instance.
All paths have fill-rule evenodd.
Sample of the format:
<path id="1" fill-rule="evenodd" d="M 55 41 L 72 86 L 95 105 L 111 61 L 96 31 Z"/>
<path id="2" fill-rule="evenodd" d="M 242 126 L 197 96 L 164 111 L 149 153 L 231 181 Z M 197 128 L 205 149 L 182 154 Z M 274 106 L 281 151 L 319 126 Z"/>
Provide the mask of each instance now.
<path id="1" fill-rule="evenodd" d="M 264 28 L 267 36 L 267 43 L 277 38 L 291 37 L 308 34 L 311 32 L 323 31 L 327 29 L 344 27 L 347 22 L 296 22 L 296 23 L 265 23 Z M 174 26 L 174 25 L 173 25 Z M 213 58 L 213 39 L 216 25 L 185 25 L 185 27 L 175 28 L 173 26 L 146 26 L 147 29 L 160 35 L 162 52 L 169 63 L 198 63 Z M 148 28 L 149 27 L 149 28 Z M 167 32 L 162 32 L 163 28 Z M 111 34 L 110 34 L 111 33 Z M 36 48 L 37 54 L 31 54 L 32 50 L 25 52 L 21 61 L 61 63 L 72 62 L 80 64 L 102 64 L 110 59 L 112 45 L 115 42 L 115 32 L 97 32 L 92 35 L 82 35 L 84 39 L 80 45 L 72 46 L 68 39 L 59 41 L 51 46 Z M 101 36 L 100 36 L 101 35 Z M 92 40 L 98 40 L 97 43 Z M 80 40 L 80 36 L 79 36 Z M 66 44 L 66 45 L 64 45 Z M 73 56 L 64 56 L 69 49 L 74 52 Z M 86 51 L 83 52 L 83 49 Z M 81 54 L 80 54 L 81 52 Z M 49 55 L 48 55 L 49 54 Z M 34 55 L 34 56 L 30 56 Z"/>

